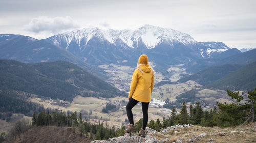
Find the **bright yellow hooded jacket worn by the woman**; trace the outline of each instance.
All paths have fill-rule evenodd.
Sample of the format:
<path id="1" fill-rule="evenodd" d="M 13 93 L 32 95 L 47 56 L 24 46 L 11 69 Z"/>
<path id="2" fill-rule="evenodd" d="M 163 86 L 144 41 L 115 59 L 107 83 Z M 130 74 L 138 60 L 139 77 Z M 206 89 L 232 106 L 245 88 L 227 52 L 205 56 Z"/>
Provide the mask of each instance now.
<path id="1" fill-rule="evenodd" d="M 133 73 L 129 98 L 132 97 L 133 99 L 140 102 L 150 102 L 153 87 L 154 71 L 150 65 L 142 64 L 138 66 L 138 68 Z"/>

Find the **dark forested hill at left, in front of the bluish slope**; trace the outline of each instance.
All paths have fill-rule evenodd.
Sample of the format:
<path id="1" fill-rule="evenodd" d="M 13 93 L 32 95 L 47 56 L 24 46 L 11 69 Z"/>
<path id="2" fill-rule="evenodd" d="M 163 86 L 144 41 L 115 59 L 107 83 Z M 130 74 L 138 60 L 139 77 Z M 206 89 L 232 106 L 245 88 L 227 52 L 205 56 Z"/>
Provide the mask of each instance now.
<path id="1" fill-rule="evenodd" d="M 125 93 L 80 67 L 65 61 L 24 64 L 0 60 L 0 89 L 22 91 L 72 101 L 83 97 L 116 97 Z"/>

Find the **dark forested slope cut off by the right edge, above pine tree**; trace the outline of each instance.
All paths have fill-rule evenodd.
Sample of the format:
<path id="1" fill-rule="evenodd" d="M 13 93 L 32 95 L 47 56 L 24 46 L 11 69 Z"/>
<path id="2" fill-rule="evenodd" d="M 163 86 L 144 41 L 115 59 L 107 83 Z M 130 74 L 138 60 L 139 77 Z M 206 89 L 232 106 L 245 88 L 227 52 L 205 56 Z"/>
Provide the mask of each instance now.
<path id="1" fill-rule="evenodd" d="M 256 50 L 255 50 L 256 51 Z M 218 80 L 206 85 L 206 88 L 250 91 L 256 87 L 256 62 L 248 64 Z"/>

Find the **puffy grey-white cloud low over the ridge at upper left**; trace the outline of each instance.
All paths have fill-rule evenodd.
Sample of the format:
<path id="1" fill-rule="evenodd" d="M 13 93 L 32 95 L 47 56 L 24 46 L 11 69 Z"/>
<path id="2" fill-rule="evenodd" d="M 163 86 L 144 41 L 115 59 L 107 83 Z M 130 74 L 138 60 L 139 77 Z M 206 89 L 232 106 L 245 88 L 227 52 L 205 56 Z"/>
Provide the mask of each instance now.
<path id="1" fill-rule="evenodd" d="M 64 30 L 70 30 L 72 28 L 78 28 L 78 22 L 74 21 L 71 17 L 47 17 L 39 16 L 31 19 L 28 25 L 24 26 L 26 31 L 40 33 L 50 32 L 53 34 L 59 33 Z"/>

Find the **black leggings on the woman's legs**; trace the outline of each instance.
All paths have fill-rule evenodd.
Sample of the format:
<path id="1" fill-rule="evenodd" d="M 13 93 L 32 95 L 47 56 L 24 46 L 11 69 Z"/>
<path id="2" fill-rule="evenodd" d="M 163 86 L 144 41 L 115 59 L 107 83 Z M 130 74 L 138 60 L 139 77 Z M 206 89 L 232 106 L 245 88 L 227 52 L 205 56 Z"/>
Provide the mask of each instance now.
<path id="1" fill-rule="evenodd" d="M 138 104 L 139 101 L 131 98 L 130 101 L 127 103 L 126 105 L 126 112 L 127 112 L 127 117 L 129 119 L 130 124 L 134 125 L 134 121 L 133 121 L 133 112 L 132 112 L 132 108 Z M 142 112 L 143 112 L 143 123 L 142 123 L 142 129 L 145 130 L 146 129 L 146 124 L 148 121 L 148 115 L 147 115 L 147 109 L 148 109 L 148 102 L 141 102 L 142 103 Z"/>

